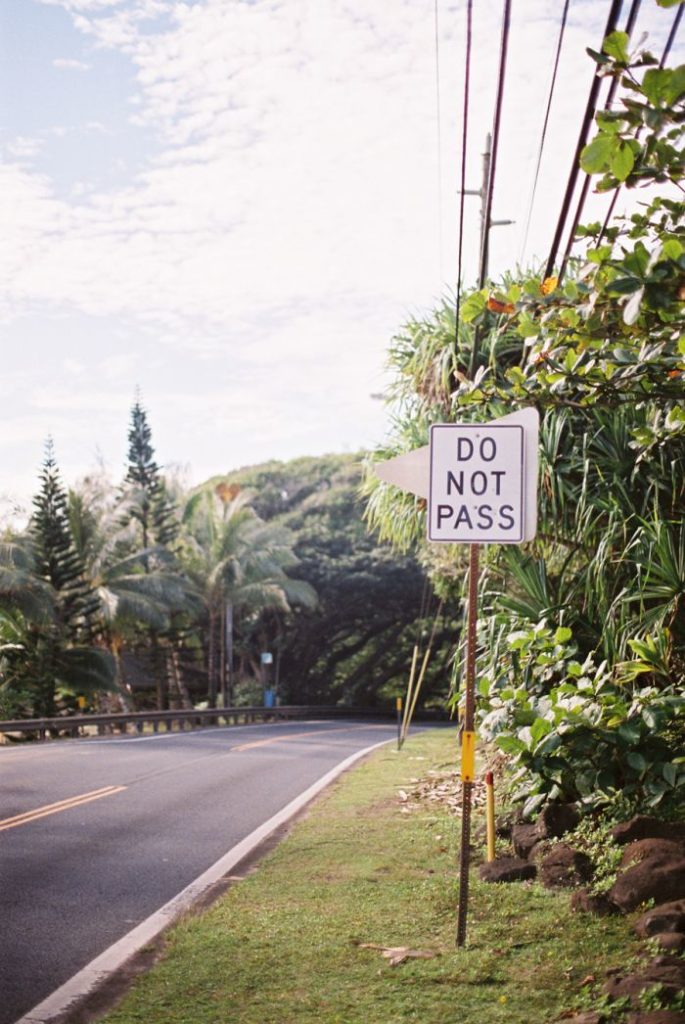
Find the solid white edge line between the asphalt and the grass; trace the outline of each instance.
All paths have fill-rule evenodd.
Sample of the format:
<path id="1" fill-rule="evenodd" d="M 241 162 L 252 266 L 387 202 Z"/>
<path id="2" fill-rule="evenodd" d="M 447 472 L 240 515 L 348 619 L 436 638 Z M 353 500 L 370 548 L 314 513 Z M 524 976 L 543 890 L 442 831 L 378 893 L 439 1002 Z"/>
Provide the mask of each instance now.
<path id="1" fill-rule="evenodd" d="M 384 739 L 380 743 L 373 743 L 365 746 L 361 751 L 351 754 L 340 764 L 323 775 L 313 785 L 301 793 L 299 797 L 291 800 L 281 811 L 265 821 L 264 824 L 255 828 L 244 840 L 238 843 L 228 853 L 220 857 L 211 867 L 208 867 L 199 878 L 186 886 L 177 896 L 165 903 L 164 906 L 156 910 L 145 921 L 142 921 L 134 929 L 124 935 L 123 938 L 115 942 L 114 945 L 105 949 L 94 959 L 73 975 L 63 985 L 56 988 L 54 992 L 39 1002 L 37 1007 L 30 1010 L 28 1014 L 20 1017 L 14 1024 L 50 1024 L 55 1018 L 60 1017 L 75 1004 L 80 1002 L 87 995 L 93 992 L 99 985 L 118 971 L 123 965 L 137 953 L 143 946 L 146 946 L 153 939 L 156 939 L 165 929 L 169 928 L 177 918 L 187 910 L 188 907 L 200 899 L 204 892 L 218 882 L 224 876 L 229 874 L 244 857 L 252 853 L 265 839 L 286 824 L 298 811 L 318 796 L 322 790 L 335 781 L 347 768 L 359 761 L 367 754 L 385 746 L 392 742 L 392 739 Z"/>

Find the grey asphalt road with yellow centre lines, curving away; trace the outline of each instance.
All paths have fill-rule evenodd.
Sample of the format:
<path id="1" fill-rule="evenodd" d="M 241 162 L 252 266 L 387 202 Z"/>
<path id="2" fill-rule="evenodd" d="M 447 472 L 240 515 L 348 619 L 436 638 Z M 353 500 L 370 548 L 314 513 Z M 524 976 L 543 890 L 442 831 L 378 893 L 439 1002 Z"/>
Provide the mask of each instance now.
<path id="1" fill-rule="evenodd" d="M 335 720 L 0 749 L 0 1024 L 394 734 Z"/>

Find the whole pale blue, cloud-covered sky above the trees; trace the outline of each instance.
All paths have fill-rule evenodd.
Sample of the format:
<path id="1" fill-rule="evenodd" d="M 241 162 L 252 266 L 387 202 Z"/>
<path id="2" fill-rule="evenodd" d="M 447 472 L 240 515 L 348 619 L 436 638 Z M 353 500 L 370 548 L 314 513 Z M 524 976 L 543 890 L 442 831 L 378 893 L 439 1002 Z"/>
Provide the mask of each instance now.
<path id="1" fill-rule="evenodd" d="M 0 521 L 48 435 L 69 485 L 120 479 L 138 390 L 188 483 L 382 442 L 390 339 L 456 283 L 465 5 L 2 0 Z M 577 140 L 607 0 L 571 0 L 526 239 L 561 6 L 513 0 L 494 273 L 546 257 Z M 478 188 L 502 3 L 474 7 Z"/>

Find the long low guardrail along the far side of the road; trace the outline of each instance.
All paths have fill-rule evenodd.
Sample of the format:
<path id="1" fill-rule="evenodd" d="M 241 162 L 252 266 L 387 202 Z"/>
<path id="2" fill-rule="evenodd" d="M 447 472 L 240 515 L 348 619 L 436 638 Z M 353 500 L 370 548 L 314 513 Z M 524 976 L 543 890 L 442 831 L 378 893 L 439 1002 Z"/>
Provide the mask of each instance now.
<path id="1" fill-rule="evenodd" d="M 0 721 L 0 733 L 20 734 L 39 739 L 58 735 L 72 737 L 129 732 L 136 735 L 152 727 L 153 733 L 164 727 L 165 732 L 198 729 L 208 725 L 248 725 L 252 722 L 277 722 L 292 719 L 319 718 L 394 718 L 386 708 L 343 708 L 340 705 L 284 705 L 276 708 L 175 708 L 171 711 L 132 711 L 113 715 L 62 715 L 54 718 L 19 718 Z M 415 716 L 416 717 L 416 716 Z M 421 720 L 441 721 L 446 715 L 439 711 L 419 713 Z"/>

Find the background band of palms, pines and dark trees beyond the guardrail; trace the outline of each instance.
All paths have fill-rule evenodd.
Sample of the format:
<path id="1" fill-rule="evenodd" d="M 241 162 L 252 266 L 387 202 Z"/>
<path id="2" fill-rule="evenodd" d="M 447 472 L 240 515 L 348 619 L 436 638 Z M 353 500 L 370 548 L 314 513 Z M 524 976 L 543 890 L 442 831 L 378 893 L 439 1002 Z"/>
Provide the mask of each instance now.
<path id="1" fill-rule="evenodd" d="M 52 453 L 46 474 L 40 514 L 0 556 L 3 717 L 261 702 L 267 652 L 281 701 L 394 707 L 431 634 L 422 696 L 444 702 L 458 624 L 436 617 L 417 560 L 366 530 L 360 456 L 268 463 L 185 493 L 157 465 L 136 400 L 121 484 L 95 473 L 67 494 Z M 59 552 L 49 571 L 39 524 Z"/>

